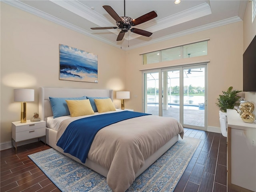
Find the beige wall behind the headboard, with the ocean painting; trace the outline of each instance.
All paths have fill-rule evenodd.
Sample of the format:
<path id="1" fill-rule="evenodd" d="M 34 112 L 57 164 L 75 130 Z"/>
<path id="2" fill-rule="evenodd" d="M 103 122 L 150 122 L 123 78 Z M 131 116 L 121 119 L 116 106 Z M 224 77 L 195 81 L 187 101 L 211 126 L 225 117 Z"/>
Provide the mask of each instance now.
<path id="1" fill-rule="evenodd" d="M 0 143 L 11 141 L 11 122 L 20 120 L 14 88 L 32 88 L 27 119 L 38 112 L 38 88 L 103 88 L 124 90 L 125 52 L 27 12 L 1 5 L 1 127 Z M 98 55 L 98 83 L 59 80 L 59 44 Z M 114 93 L 115 95 L 115 93 Z M 120 100 L 114 101 L 120 106 Z"/>

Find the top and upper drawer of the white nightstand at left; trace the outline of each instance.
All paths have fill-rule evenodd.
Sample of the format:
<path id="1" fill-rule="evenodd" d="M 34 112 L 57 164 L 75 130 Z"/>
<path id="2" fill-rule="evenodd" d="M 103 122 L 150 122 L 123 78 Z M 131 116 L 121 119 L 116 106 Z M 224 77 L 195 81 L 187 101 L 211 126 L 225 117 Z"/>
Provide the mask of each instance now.
<path id="1" fill-rule="evenodd" d="M 27 123 L 17 123 L 17 124 L 12 124 L 14 126 L 15 132 L 23 132 L 27 130 L 34 130 L 38 128 L 45 128 L 46 127 L 46 122 L 45 121 L 40 121 L 40 122 L 27 122 Z"/>

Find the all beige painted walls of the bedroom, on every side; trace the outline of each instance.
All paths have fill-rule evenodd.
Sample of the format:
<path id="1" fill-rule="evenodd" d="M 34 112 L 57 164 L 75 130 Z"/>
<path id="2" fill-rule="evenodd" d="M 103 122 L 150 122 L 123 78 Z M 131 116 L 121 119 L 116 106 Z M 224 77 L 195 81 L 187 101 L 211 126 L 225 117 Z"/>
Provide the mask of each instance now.
<path id="1" fill-rule="evenodd" d="M 248 6 L 250 3 L 248 2 Z M 20 120 L 20 103 L 13 101 L 14 88 L 35 89 L 35 101 L 27 104 L 28 119 L 32 118 L 34 112 L 38 112 L 38 88 L 41 86 L 129 90 L 131 99 L 125 101 L 125 107 L 142 111 L 141 70 L 204 60 L 210 60 L 208 64 L 208 128 L 218 129 L 219 109 L 215 104 L 218 95 L 229 86 L 242 90 L 242 54 L 252 40 L 252 36 L 256 34 L 255 21 L 253 24 L 249 22 L 251 7 L 247 7 L 244 22 L 123 51 L 2 2 L 0 5 L 1 144 L 11 140 L 11 122 Z M 142 65 L 142 56 L 139 55 L 142 52 L 161 50 L 203 38 L 210 38 L 207 56 Z M 58 44 L 98 54 L 98 83 L 58 80 Z M 124 57 L 126 62 L 119 62 L 124 61 Z M 134 95 L 137 95 L 137 98 Z M 114 102 L 120 105 L 120 100 L 114 100 Z"/>

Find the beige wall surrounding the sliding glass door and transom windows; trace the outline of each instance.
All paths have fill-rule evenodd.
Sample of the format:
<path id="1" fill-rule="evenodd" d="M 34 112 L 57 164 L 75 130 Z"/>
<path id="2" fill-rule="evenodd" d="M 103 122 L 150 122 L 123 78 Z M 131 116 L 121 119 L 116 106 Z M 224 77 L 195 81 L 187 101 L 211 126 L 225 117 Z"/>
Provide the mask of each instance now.
<path id="1" fill-rule="evenodd" d="M 139 55 L 142 52 L 160 50 L 168 46 L 186 44 L 203 38 L 210 38 L 208 41 L 208 55 L 206 56 L 142 65 L 142 56 Z M 219 128 L 219 108 L 215 103 L 218 95 L 222 94 L 222 90 L 227 90 L 229 86 L 242 90 L 242 54 L 243 22 L 236 22 L 126 51 L 126 60 L 128 60 L 126 71 L 127 74 L 133 74 L 133 78 L 126 76 L 126 89 L 131 91 L 131 99 L 126 104 L 136 111 L 142 110 L 141 69 L 157 66 L 177 66 L 210 60 L 208 63 L 208 128 Z M 138 95 L 138 98 L 134 98 L 134 94 Z"/>

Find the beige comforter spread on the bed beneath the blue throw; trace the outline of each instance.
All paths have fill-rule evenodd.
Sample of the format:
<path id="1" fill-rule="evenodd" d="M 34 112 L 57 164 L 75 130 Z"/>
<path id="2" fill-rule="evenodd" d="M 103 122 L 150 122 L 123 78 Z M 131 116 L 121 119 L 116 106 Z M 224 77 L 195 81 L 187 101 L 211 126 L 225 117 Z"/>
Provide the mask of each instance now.
<path id="1" fill-rule="evenodd" d="M 78 118 L 60 123 L 56 142 L 68 124 Z M 124 120 L 96 134 L 87 158 L 109 169 L 108 186 L 114 192 L 124 192 L 144 160 L 177 134 L 183 138 L 184 130 L 173 118 L 148 115 Z"/>

